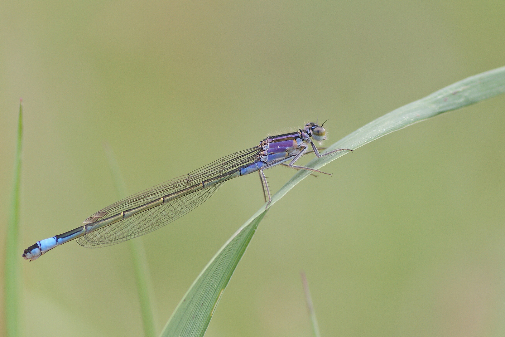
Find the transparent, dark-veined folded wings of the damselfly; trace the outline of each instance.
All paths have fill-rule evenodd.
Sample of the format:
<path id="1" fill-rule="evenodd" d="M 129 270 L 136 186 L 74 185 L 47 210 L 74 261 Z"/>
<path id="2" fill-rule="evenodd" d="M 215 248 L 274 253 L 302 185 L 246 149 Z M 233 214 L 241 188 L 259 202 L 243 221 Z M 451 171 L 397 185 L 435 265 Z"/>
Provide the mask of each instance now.
<path id="1" fill-rule="evenodd" d="M 77 243 L 81 246 L 94 248 L 115 245 L 156 230 L 176 220 L 209 199 L 224 184 L 226 177 L 234 174 L 239 167 L 255 162 L 260 151 L 259 147 L 254 147 L 223 157 L 187 175 L 138 192 L 96 212 L 86 219 L 84 223 L 92 223 L 100 218 L 120 214 L 151 201 L 159 200 L 182 189 L 198 185 L 202 181 L 225 178 L 222 182 L 215 185 L 196 190 L 110 226 L 87 233 L 84 236 L 78 237 Z"/>

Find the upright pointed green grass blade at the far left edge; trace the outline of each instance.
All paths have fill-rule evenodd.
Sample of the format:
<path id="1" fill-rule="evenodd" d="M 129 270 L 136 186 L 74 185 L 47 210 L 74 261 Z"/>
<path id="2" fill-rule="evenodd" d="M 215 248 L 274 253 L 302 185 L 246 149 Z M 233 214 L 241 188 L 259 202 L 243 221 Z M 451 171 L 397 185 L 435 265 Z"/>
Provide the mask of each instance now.
<path id="1" fill-rule="evenodd" d="M 21 189 L 21 152 L 23 148 L 23 106 L 19 104 L 18 139 L 14 161 L 14 185 L 11 195 L 11 210 L 6 234 L 5 254 L 5 316 L 6 336 L 17 337 L 19 331 L 21 256 L 18 251 L 19 238 L 19 193 Z"/>

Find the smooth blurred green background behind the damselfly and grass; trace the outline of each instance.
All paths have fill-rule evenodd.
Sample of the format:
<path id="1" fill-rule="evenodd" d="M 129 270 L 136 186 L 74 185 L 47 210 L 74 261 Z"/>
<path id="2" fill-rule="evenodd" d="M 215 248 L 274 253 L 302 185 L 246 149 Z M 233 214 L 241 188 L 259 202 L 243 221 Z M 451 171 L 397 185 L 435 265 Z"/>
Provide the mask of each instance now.
<path id="1" fill-rule="evenodd" d="M 104 141 L 130 193 L 308 120 L 329 119 L 329 145 L 505 65 L 504 17 L 503 1 L 1 2 L 0 237 L 23 98 L 25 335 L 142 334 L 127 244 L 21 258 L 117 200 Z M 310 336 L 301 269 L 323 336 L 503 335 L 504 112 L 502 95 L 443 114 L 302 181 L 260 224 L 206 335 Z M 272 190 L 292 174 L 269 170 Z M 143 236 L 158 331 L 261 205 L 252 174 Z"/>

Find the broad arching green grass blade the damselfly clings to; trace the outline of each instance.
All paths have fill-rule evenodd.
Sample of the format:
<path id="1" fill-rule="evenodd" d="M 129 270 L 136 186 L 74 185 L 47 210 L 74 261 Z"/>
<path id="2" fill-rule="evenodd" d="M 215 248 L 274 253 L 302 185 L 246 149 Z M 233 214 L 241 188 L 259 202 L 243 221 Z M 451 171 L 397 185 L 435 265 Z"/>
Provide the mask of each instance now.
<path id="1" fill-rule="evenodd" d="M 326 151 L 358 149 L 372 140 L 443 112 L 459 109 L 505 92 L 505 67 L 493 69 L 453 83 L 427 97 L 377 118 L 331 145 Z M 308 166 L 320 168 L 348 152 L 316 158 Z M 311 173 L 298 171 L 272 197 L 272 207 L 298 182 Z M 245 222 L 198 275 L 165 325 L 161 336 L 203 336 L 212 314 L 242 258 L 258 224 L 266 214 L 262 206 Z"/>

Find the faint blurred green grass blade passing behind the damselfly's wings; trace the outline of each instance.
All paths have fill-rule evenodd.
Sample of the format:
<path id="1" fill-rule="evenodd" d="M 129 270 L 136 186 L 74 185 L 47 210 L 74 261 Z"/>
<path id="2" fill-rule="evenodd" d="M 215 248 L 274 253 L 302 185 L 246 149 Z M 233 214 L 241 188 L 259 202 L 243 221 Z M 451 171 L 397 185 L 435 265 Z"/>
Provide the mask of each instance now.
<path id="1" fill-rule="evenodd" d="M 128 197 L 126 184 L 119 169 L 118 162 L 116 161 L 116 157 L 114 156 L 114 152 L 108 143 L 104 143 L 104 150 L 109 161 L 109 167 L 111 169 L 111 175 L 114 185 L 116 186 L 118 197 L 119 199 L 126 198 Z M 128 244 L 130 246 L 133 269 L 135 271 L 135 280 L 137 283 L 138 301 L 140 304 L 140 313 L 142 315 L 144 336 L 155 337 L 156 325 L 154 315 L 155 310 L 153 305 L 153 286 L 150 280 L 149 265 L 147 263 L 144 246 L 142 244 L 142 238 L 136 237 L 128 240 Z"/>

